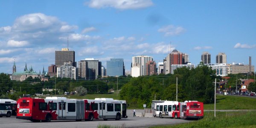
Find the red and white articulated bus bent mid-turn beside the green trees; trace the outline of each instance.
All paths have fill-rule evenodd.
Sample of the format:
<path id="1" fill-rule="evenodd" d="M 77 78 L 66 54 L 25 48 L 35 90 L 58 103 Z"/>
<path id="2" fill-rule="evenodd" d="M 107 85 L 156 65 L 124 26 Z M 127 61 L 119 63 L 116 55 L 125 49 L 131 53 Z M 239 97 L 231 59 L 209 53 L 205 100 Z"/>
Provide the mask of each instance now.
<path id="1" fill-rule="evenodd" d="M 204 103 L 198 101 L 165 101 L 156 104 L 154 116 L 188 119 L 204 118 Z"/>

